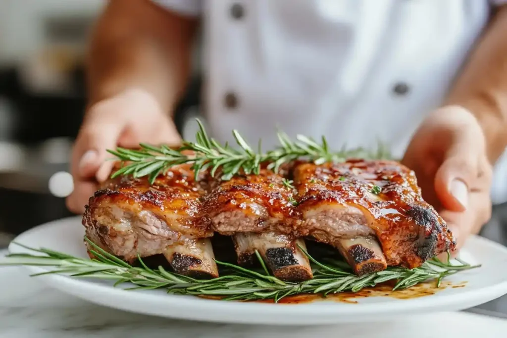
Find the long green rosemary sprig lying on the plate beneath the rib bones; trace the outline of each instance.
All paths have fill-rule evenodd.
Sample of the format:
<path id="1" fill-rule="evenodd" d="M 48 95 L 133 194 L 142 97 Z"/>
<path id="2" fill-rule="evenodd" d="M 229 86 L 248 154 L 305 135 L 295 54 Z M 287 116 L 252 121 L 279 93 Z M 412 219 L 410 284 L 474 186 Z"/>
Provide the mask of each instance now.
<path id="1" fill-rule="evenodd" d="M 0 262 L 0 266 L 53 267 L 53 270 L 35 276 L 65 274 L 74 278 L 108 279 L 115 281 L 115 286 L 124 283 L 133 284 L 126 288 L 129 290 L 165 289 L 167 293 L 172 294 L 220 296 L 221 299 L 238 301 L 272 299 L 275 303 L 286 296 L 300 293 L 316 293 L 325 296 L 342 291 L 357 292 L 365 287 L 387 281 L 396 281 L 393 290 L 407 288 L 427 280 L 436 280 L 436 287 L 439 287 L 443 278 L 478 267 L 463 261 L 455 265 L 449 259 L 444 262 L 433 258 L 417 269 L 389 267 L 384 271 L 355 276 L 343 261 L 329 259 L 323 264 L 303 250 L 312 261 L 314 272 L 314 278 L 305 282 L 289 283 L 270 276 L 259 254 L 257 257 L 263 267 L 259 271 L 217 261 L 222 270 L 221 277 L 197 280 L 166 271 L 160 266 L 158 269 L 150 269 L 144 265 L 140 257 L 138 259 L 141 267 L 132 267 L 91 241 L 88 243 L 93 247 L 95 259 L 83 259 L 49 249 L 25 247 L 34 253 L 11 253 L 7 256 L 6 262 Z"/>

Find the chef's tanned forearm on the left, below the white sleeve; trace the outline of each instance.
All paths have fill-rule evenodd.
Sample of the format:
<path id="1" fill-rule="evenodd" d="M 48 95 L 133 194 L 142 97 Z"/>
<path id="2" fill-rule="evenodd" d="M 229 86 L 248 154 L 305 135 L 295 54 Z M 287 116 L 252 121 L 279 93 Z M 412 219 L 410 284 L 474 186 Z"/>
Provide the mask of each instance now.
<path id="1" fill-rule="evenodd" d="M 110 1 L 92 35 L 89 102 L 140 88 L 171 111 L 189 77 L 196 26 L 148 0 Z"/>

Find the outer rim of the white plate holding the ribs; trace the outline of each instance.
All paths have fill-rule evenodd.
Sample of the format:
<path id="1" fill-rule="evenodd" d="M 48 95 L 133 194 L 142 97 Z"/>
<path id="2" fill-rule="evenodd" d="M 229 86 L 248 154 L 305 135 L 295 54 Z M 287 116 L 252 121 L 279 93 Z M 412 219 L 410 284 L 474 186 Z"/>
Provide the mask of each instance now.
<path id="1" fill-rule="evenodd" d="M 51 229 L 58 224 L 70 227 L 77 217 L 64 218 L 48 222 L 28 230 L 16 237 L 14 242 L 23 244 L 23 238 L 31 234 Z M 65 225 L 65 223 L 68 223 Z M 507 248 L 485 238 L 474 236 L 467 246 L 475 243 L 489 246 L 496 253 L 503 254 L 500 259 L 507 262 Z M 11 252 L 25 252 L 11 243 Z M 47 271 L 41 267 L 24 267 L 31 273 Z M 482 269 L 482 268 L 481 268 Z M 61 275 L 37 277 L 48 286 L 65 293 L 78 296 L 88 302 L 130 312 L 155 315 L 169 318 L 192 319 L 212 322 L 250 323 L 250 324 L 325 324 L 337 322 L 360 322 L 382 320 L 393 315 L 405 315 L 426 311 L 457 311 L 477 306 L 507 293 L 507 273 L 505 280 L 486 288 L 466 289 L 457 294 L 442 294 L 413 299 L 397 300 L 396 302 L 371 304 L 343 304 L 335 302 L 315 302 L 299 305 L 274 305 L 262 303 L 221 302 L 192 296 L 164 295 L 160 293 L 126 291 L 86 280 L 79 280 Z M 386 308 L 387 306 L 387 308 Z"/>

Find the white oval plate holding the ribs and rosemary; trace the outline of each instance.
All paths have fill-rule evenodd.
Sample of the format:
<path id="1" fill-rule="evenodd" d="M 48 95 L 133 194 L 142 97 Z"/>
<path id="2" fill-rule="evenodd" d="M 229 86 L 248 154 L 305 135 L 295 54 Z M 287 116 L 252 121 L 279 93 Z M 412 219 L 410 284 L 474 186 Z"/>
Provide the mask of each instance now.
<path id="1" fill-rule="evenodd" d="M 80 218 L 66 218 L 29 230 L 15 241 L 30 247 L 46 247 L 79 257 L 87 257 L 83 245 L 84 228 Z M 11 252 L 25 249 L 11 244 Z M 396 299 L 374 296 L 354 299 L 357 304 L 318 301 L 303 304 L 226 302 L 193 296 L 168 295 L 163 290 L 126 291 L 106 281 L 73 279 L 45 275 L 49 286 L 103 306 L 171 318 L 192 320 L 259 323 L 324 324 L 377 321 L 414 313 L 457 311 L 477 306 L 507 293 L 507 248 L 481 237 L 471 237 L 461 252 L 470 264 L 482 267 L 460 272 L 448 280 L 464 287 L 448 287 L 435 294 Z M 43 268 L 28 267 L 31 273 Z"/>

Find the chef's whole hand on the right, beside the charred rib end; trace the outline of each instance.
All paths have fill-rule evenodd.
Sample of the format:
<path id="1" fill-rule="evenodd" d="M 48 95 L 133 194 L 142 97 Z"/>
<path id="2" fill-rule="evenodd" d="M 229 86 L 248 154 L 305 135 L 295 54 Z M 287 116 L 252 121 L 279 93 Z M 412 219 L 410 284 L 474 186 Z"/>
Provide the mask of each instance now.
<path id="1" fill-rule="evenodd" d="M 483 130 L 467 109 L 433 111 L 414 134 L 402 163 L 415 171 L 424 200 L 447 222 L 456 250 L 490 219 L 492 165 Z"/>

